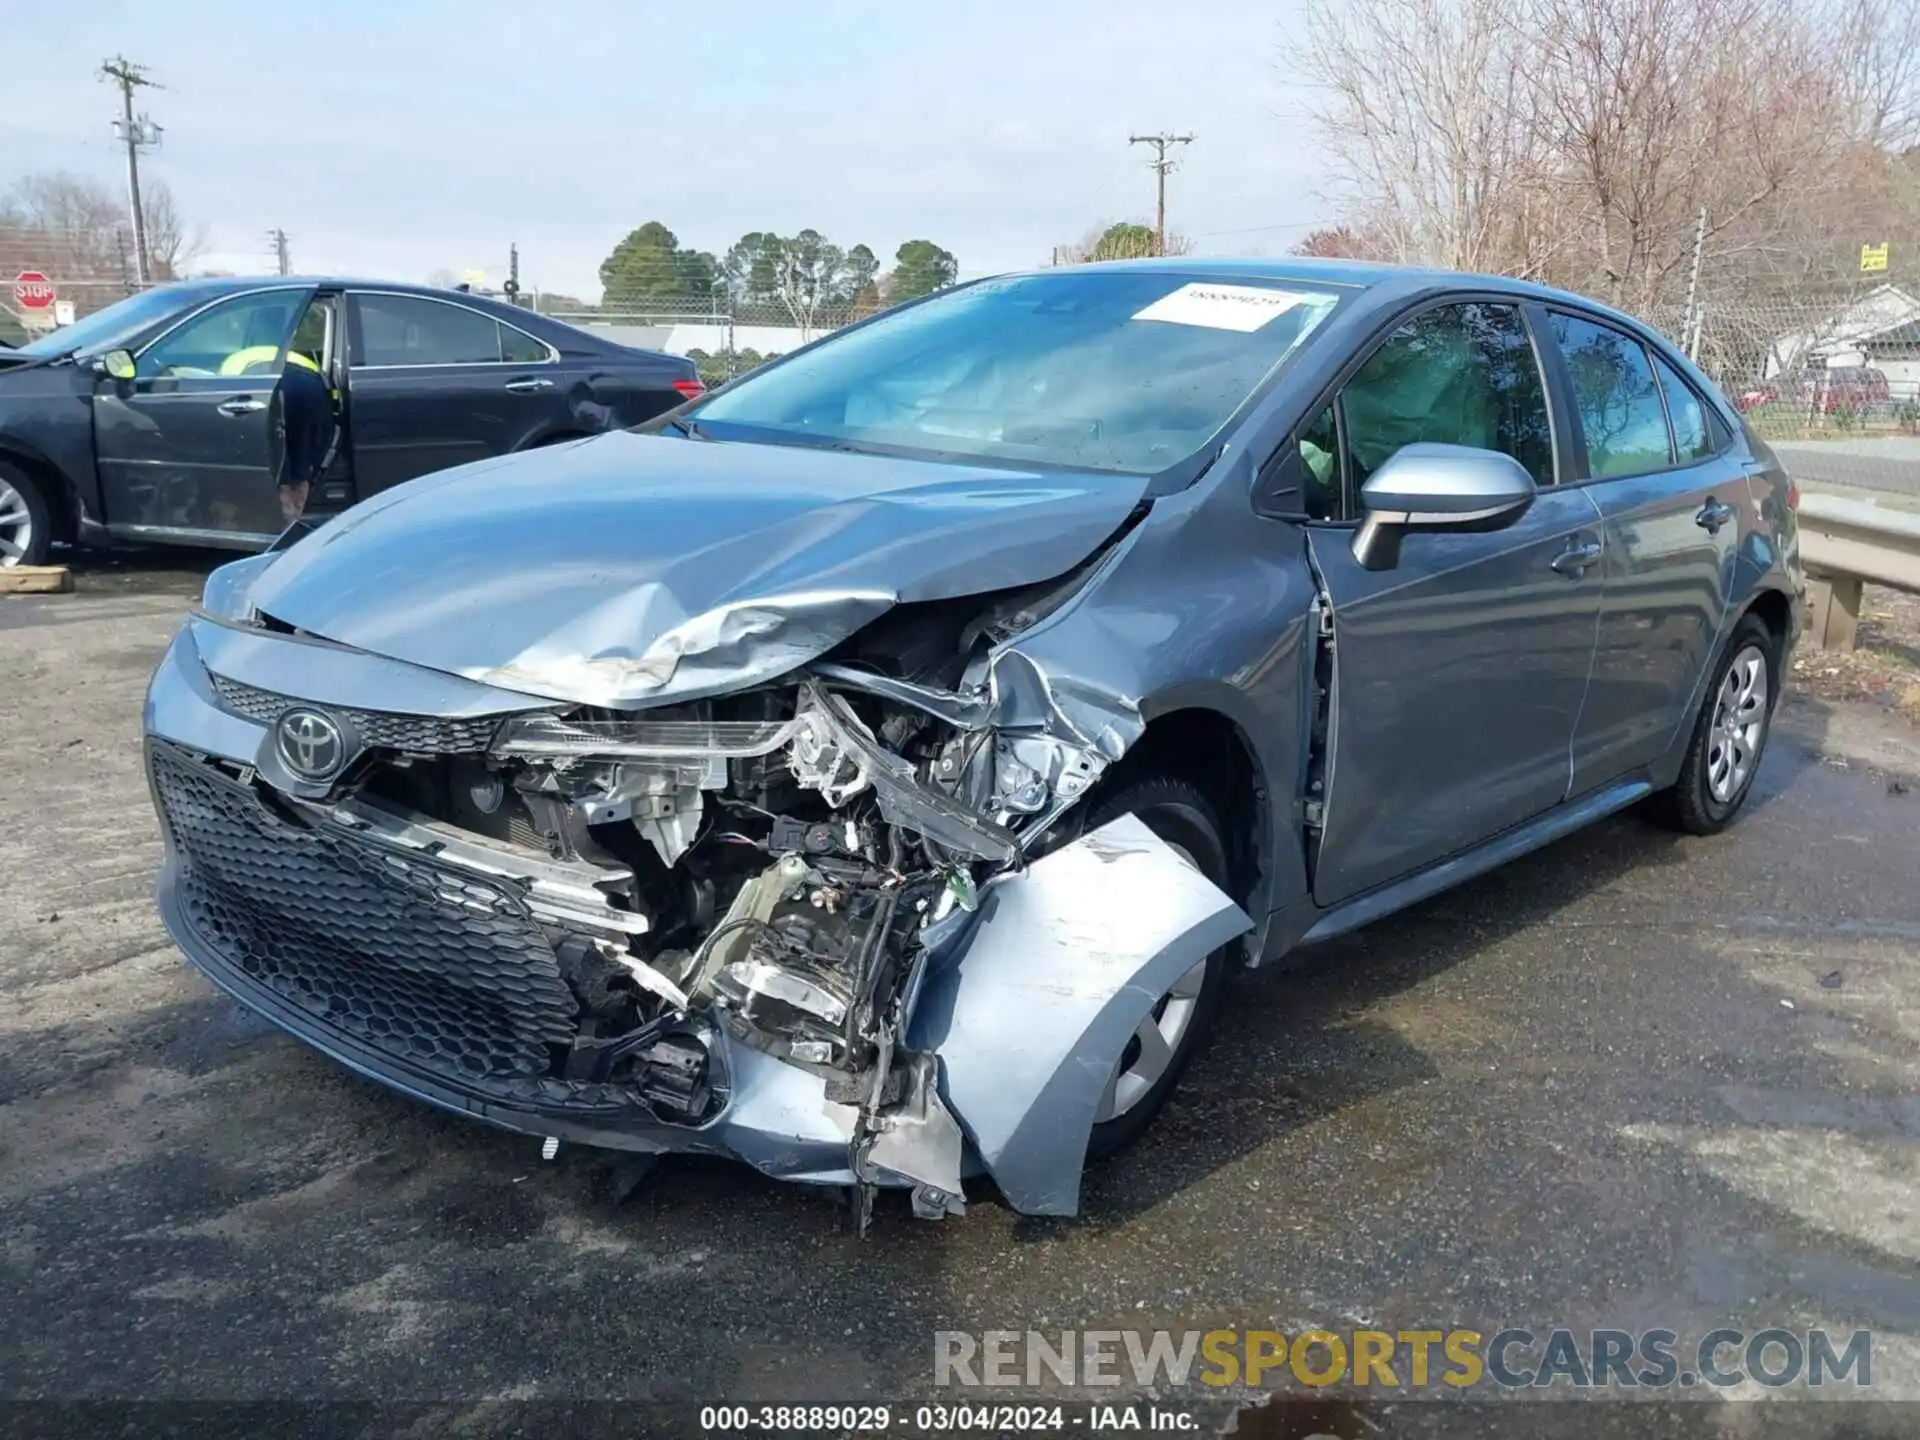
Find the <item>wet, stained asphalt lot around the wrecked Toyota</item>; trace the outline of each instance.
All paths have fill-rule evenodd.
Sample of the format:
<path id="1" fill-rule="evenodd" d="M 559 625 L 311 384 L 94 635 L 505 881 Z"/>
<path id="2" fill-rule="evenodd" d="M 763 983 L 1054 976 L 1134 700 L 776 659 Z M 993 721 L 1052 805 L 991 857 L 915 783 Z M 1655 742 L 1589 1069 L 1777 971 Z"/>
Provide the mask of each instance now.
<path id="1" fill-rule="evenodd" d="M 161 933 L 148 670 L 204 561 L 0 601 L 6 1392 L 914 1396 L 935 1329 L 1874 1331 L 1920 1400 L 1920 772 L 1793 699 L 1747 816 L 1634 814 L 1246 977 L 1037 1223 L 609 1165 L 361 1083 Z"/>

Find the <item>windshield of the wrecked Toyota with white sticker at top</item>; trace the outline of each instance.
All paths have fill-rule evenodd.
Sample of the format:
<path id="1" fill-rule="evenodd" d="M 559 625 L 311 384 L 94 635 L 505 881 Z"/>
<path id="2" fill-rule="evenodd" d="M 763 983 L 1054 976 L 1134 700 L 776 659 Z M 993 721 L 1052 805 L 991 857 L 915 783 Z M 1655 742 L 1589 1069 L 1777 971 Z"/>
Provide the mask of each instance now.
<path id="1" fill-rule="evenodd" d="M 1058 271 L 983 280 L 695 407 L 703 428 L 1154 474 L 1198 453 L 1338 296 L 1275 280 Z"/>

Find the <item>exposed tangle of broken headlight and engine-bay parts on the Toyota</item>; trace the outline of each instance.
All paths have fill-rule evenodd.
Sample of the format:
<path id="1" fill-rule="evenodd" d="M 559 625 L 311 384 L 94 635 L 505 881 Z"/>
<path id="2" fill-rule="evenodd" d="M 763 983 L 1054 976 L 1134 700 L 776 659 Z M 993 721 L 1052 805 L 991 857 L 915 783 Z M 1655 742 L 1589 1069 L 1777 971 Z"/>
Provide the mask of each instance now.
<path id="1" fill-rule="evenodd" d="M 993 724 L 1008 622 L 1031 609 L 906 607 L 778 684 L 524 714 L 484 753 L 371 749 L 328 799 L 288 803 L 522 887 L 580 1006 L 555 1079 L 697 1127 L 728 1098 L 703 1039 L 724 1029 L 824 1077 L 860 1114 L 854 1171 L 947 1213 L 960 1129 L 906 1021 L 979 889 L 1069 837 L 1110 762 L 1058 724 Z"/>

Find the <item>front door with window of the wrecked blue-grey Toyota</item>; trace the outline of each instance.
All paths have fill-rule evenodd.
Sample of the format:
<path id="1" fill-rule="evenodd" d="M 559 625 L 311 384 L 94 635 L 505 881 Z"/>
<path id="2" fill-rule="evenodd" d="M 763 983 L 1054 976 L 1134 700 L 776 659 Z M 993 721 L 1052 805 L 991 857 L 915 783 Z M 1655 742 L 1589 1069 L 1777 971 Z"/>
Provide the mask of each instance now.
<path id="1" fill-rule="evenodd" d="M 1513 455 L 1540 493 L 1490 532 L 1411 530 L 1354 559 L 1359 488 L 1413 442 Z M 1515 303 L 1448 303 L 1392 332 L 1300 438 L 1332 599 L 1321 906 L 1465 851 L 1567 797 L 1599 616 L 1601 518 L 1555 486 L 1553 428 Z"/>

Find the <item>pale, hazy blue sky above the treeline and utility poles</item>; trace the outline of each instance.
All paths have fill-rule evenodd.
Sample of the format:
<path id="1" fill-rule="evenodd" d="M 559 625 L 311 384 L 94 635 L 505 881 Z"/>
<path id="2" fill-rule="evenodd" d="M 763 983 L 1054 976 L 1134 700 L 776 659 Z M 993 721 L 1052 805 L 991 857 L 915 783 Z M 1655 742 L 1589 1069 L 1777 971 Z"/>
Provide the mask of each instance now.
<path id="1" fill-rule="evenodd" d="M 111 54 L 150 67 L 146 167 L 207 227 L 202 263 L 417 280 L 503 273 L 591 296 L 632 227 L 724 252 L 812 225 L 881 259 L 918 236 L 962 275 L 1044 263 L 1148 217 L 1131 131 L 1192 131 L 1169 227 L 1275 253 L 1319 219 L 1292 6 L 84 0 L 21 6 L 0 186 L 67 169 L 119 188 Z M 33 63 L 19 63 L 31 52 Z"/>

